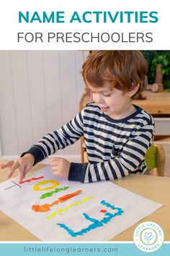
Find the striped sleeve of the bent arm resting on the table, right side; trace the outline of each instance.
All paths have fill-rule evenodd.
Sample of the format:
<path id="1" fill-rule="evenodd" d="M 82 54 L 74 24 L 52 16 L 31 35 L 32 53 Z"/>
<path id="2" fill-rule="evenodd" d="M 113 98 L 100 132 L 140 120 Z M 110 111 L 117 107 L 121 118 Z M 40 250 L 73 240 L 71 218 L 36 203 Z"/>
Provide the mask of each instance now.
<path id="1" fill-rule="evenodd" d="M 71 163 L 69 180 L 79 182 L 96 182 L 109 179 L 120 179 L 130 173 L 146 171 L 144 163 L 146 150 L 153 144 L 154 124 L 143 124 L 136 127 L 121 152 L 110 156 L 109 161 L 99 163 Z"/>

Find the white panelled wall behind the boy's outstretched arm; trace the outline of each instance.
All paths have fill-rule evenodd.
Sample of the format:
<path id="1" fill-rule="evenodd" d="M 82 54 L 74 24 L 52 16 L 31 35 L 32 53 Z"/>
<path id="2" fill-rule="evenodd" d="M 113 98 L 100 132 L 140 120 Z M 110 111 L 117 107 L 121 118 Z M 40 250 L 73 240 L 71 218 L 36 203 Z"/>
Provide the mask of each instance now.
<path id="1" fill-rule="evenodd" d="M 0 153 L 19 155 L 79 111 L 84 51 L 0 51 Z M 80 155 L 76 142 L 59 155 Z"/>

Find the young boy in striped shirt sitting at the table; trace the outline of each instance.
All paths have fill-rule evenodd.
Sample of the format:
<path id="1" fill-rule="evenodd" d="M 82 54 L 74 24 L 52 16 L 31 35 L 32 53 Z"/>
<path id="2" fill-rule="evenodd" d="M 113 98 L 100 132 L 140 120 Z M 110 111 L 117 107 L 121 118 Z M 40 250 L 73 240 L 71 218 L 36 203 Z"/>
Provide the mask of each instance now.
<path id="1" fill-rule="evenodd" d="M 131 99 L 143 91 L 146 73 L 147 63 L 140 51 L 92 51 L 84 61 L 82 74 L 94 103 L 1 168 L 11 168 L 9 178 L 18 168 L 22 181 L 36 163 L 84 136 L 89 163 L 54 157 L 50 162 L 53 174 L 77 182 L 145 174 L 154 121 Z"/>

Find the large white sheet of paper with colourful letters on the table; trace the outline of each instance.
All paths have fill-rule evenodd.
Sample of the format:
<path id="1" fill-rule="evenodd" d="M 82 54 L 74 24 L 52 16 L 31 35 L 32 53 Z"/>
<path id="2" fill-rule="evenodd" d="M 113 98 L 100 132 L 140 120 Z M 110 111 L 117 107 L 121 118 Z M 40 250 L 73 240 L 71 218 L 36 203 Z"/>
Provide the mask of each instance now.
<path id="1" fill-rule="evenodd" d="M 40 176 L 44 176 L 44 178 L 23 184 L 19 184 L 18 178 L 1 183 L 0 210 L 10 218 L 13 218 L 14 221 L 22 224 L 22 226 L 42 241 L 107 241 L 162 206 L 145 197 L 135 195 L 133 192 L 123 189 L 112 182 L 95 182 L 91 184 L 68 182 L 51 174 L 50 166 L 27 175 L 26 179 Z M 58 187 L 69 188 L 65 191 L 54 193 L 51 197 L 40 199 L 42 194 L 58 188 L 35 191 L 33 189 L 34 185 L 42 182 L 42 180 L 57 180 L 59 182 Z M 13 182 L 19 184 L 20 187 L 14 185 Z M 39 188 L 42 189 L 50 186 L 49 182 L 46 185 L 40 184 Z M 59 202 L 58 205 L 51 206 L 47 212 L 42 213 L 32 210 L 32 205 L 51 204 L 58 200 L 58 197 L 76 192 L 79 189 L 81 189 L 79 195 L 71 197 L 71 199 L 65 202 Z M 114 205 L 116 209 L 112 210 L 108 205 L 102 205 L 101 202 L 104 202 L 103 200 L 109 203 L 109 205 Z M 81 203 L 73 205 L 76 202 Z M 61 208 L 66 209 L 68 205 L 72 205 L 72 207 L 69 206 L 66 212 L 56 214 L 50 219 L 46 218 L 54 211 L 56 212 Z M 117 215 L 118 211 L 120 211 L 117 208 L 121 208 L 120 210 L 123 211 L 121 215 Z M 107 210 L 107 212 L 101 213 L 100 210 Z M 83 213 L 92 218 L 92 221 L 86 219 Z M 109 221 L 104 223 L 104 218 L 107 218 L 107 221 Z M 90 229 L 95 220 L 98 221 L 99 226 L 94 225 L 95 228 Z M 65 224 L 77 235 L 71 236 L 66 229 L 58 226 L 58 223 Z M 86 233 L 82 233 L 83 229 L 87 229 Z M 79 231 L 82 234 L 79 234 Z"/>

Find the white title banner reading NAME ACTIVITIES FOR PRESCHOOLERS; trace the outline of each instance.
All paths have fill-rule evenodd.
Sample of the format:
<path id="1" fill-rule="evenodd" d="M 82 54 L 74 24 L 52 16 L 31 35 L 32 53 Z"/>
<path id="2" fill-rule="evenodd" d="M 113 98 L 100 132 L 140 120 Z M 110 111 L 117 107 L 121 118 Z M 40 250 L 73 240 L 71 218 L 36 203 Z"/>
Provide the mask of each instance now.
<path id="1" fill-rule="evenodd" d="M 169 50 L 168 1 L 6 0 L 1 50 Z"/>

